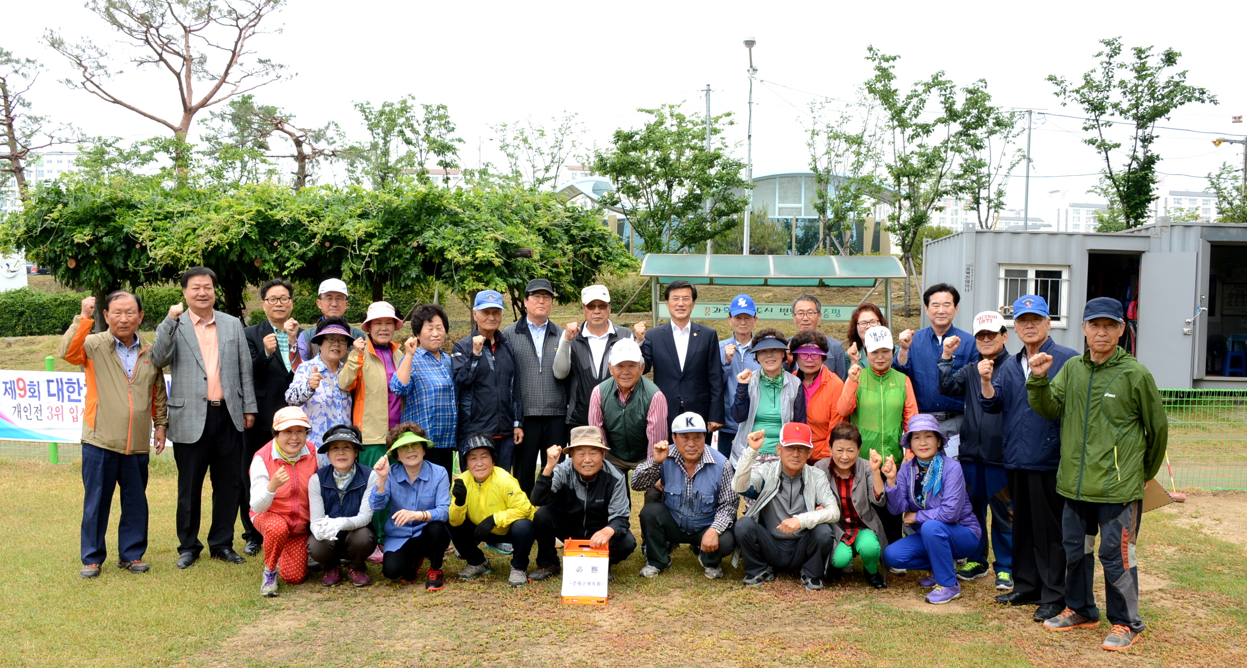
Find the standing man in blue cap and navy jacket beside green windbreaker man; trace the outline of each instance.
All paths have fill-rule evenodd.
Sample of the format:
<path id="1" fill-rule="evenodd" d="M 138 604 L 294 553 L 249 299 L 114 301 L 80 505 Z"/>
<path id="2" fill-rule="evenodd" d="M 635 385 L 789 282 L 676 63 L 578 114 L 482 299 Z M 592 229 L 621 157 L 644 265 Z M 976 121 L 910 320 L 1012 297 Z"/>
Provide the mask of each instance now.
<path id="1" fill-rule="evenodd" d="M 1014 591 L 996 597 L 1010 606 L 1038 606 L 1034 619 L 1044 622 L 1065 606 L 1065 550 L 1061 547 L 1061 508 L 1056 494 L 1056 467 L 1061 461 L 1060 414 L 1036 413 L 1026 399 L 1028 360 L 1044 354 L 1052 360 L 1052 374 L 1079 354 L 1057 345 L 1047 332 L 1052 327 L 1047 302 L 1024 294 L 1013 305 L 1014 333 L 1023 349 L 1000 364 L 979 370 L 983 411 L 1001 414 L 1004 422 L 1005 480 L 1014 503 L 1013 577 Z M 995 371 L 993 374 L 993 370 Z"/>

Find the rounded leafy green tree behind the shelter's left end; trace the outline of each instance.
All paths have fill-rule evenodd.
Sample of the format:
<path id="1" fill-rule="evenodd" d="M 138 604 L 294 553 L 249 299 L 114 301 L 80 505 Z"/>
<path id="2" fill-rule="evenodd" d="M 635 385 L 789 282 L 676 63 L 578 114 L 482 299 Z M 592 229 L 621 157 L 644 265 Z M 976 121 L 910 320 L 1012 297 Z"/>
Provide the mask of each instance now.
<path id="1" fill-rule="evenodd" d="M 741 191 L 753 187 L 722 137 L 706 150 L 706 118 L 680 107 L 637 110 L 653 118 L 637 130 L 616 130 L 611 147 L 594 155 L 594 171 L 616 188 L 601 203 L 625 211 L 646 253 L 695 249 L 722 236 L 748 204 Z M 711 117 L 712 137 L 732 125 L 729 117 Z"/>

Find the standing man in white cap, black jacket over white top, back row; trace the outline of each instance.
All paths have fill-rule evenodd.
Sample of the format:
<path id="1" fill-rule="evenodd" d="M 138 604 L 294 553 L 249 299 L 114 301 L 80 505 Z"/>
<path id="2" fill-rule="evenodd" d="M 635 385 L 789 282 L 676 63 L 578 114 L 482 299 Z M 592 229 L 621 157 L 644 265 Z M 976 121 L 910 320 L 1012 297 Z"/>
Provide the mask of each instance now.
<path id="1" fill-rule="evenodd" d="M 585 323 L 567 323 L 554 356 L 554 376 L 567 379 L 567 424 L 587 425 L 589 395 L 610 376 L 610 351 L 632 333 L 611 322 L 611 293 L 606 285 L 580 290 Z M 643 336 L 643 334 L 642 334 Z"/>

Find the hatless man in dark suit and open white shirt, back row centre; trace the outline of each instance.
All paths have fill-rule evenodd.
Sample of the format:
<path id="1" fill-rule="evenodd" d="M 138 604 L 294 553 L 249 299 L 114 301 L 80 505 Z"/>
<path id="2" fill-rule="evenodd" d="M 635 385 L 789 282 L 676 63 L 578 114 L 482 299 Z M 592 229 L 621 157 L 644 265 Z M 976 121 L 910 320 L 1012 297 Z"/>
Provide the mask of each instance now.
<path id="1" fill-rule="evenodd" d="M 671 320 L 648 333 L 637 327 L 645 370 L 653 369 L 653 384 L 667 398 L 667 415 L 705 415 L 706 429 L 723 426 L 723 365 L 718 358 L 718 333 L 692 322 L 697 287 L 672 280 L 663 292 Z"/>

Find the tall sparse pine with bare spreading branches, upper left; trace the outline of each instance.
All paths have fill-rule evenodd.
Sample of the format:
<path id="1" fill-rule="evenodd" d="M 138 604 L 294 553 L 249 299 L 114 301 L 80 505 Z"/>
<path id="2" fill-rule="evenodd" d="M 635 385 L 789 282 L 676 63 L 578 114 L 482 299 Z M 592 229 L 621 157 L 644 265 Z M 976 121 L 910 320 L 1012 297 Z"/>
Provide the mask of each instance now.
<path id="1" fill-rule="evenodd" d="M 284 66 L 252 57 L 251 40 L 262 34 L 261 22 L 283 0 L 90 0 L 87 9 L 121 32 L 140 69 L 152 67 L 175 80 L 180 115 L 166 116 L 141 108 L 113 85 L 122 74 L 108 65 L 111 56 L 89 39 L 65 41 L 54 30 L 44 40 L 69 59 L 77 76 L 65 80 L 111 105 L 127 108 L 168 128 L 187 141 L 195 116 L 236 95 L 281 81 Z M 203 84 L 206 90 L 197 91 Z M 180 169 L 190 161 L 186 151 L 175 155 Z"/>

